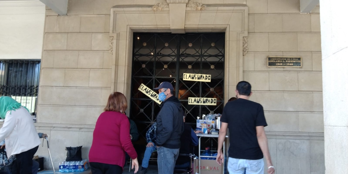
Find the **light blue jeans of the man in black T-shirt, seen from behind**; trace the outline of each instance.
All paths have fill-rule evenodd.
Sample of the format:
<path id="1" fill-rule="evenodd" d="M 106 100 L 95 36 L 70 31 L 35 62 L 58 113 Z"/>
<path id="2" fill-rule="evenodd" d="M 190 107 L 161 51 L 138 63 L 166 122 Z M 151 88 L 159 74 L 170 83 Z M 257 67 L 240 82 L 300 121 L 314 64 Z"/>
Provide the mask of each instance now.
<path id="1" fill-rule="evenodd" d="M 230 174 L 263 174 L 263 159 L 248 160 L 228 158 L 228 172 Z"/>

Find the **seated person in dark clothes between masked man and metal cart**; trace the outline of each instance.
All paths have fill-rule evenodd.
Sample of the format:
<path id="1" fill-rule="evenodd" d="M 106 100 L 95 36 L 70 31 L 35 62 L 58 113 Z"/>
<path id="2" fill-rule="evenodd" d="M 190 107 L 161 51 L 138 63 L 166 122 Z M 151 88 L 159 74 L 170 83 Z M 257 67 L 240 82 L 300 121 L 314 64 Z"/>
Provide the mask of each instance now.
<path id="1" fill-rule="evenodd" d="M 186 114 L 184 115 L 184 122 Z M 180 154 L 192 153 L 192 145 L 198 145 L 198 137 L 196 133 L 202 133 L 200 130 L 193 131 L 192 127 L 188 124 L 184 124 L 184 132 L 181 134 L 180 142 L 181 147 L 179 150 Z M 190 166 L 190 157 L 179 156 L 175 163 L 175 168 L 186 168 Z"/>

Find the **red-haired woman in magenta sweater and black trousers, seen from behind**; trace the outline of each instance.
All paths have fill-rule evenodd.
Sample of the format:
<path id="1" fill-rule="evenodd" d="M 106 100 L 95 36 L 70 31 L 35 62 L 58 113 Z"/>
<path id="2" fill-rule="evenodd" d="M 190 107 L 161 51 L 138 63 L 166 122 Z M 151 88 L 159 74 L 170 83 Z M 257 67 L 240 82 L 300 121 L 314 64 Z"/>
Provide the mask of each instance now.
<path id="1" fill-rule="evenodd" d="M 93 132 L 89 164 L 92 174 L 121 174 L 125 151 L 132 158 L 132 169 L 138 171 L 137 154 L 130 141 L 129 121 L 125 114 L 126 97 L 119 92 L 110 94 L 108 104 L 98 117 Z"/>

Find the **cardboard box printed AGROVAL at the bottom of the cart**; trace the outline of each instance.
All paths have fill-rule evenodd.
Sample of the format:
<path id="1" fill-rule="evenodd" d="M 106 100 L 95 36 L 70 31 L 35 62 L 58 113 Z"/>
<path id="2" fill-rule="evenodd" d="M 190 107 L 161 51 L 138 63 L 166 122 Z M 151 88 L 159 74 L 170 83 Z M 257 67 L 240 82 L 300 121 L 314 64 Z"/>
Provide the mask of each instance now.
<path id="1" fill-rule="evenodd" d="M 195 160 L 195 173 L 199 173 L 198 159 Z M 216 160 L 201 159 L 200 174 L 222 174 L 222 166 L 216 163 Z"/>

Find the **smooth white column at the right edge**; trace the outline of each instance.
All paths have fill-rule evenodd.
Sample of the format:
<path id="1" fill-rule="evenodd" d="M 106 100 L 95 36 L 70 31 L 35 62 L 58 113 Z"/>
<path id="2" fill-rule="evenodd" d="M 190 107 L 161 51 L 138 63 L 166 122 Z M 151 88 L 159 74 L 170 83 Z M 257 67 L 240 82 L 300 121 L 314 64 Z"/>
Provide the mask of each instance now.
<path id="1" fill-rule="evenodd" d="M 320 0 L 326 174 L 348 171 L 347 6 Z"/>

